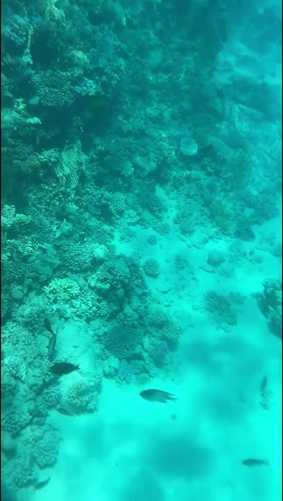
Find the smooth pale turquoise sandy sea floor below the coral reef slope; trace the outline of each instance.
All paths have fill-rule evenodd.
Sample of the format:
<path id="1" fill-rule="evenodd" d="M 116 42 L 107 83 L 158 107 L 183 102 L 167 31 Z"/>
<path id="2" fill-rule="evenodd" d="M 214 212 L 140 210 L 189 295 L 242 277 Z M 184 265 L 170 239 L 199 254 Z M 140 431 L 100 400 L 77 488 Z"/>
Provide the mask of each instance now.
<path id="1" fill-rule="evenodd" d="M 278 221 L 261 232 L 268 233 L 272 225 L 277 232 Z M 257 234 L 256 243 L 243 244 L 246 255 L 252 247 L 254 260 L 243 257 L 237 265 L 233 252 L 228 252 L 234 266 L 230 276 L 207 271 L 207 253 L 215 242 L 200 248 L 185 241 L 173 246 L 171 238 L 163 239 L 155 252 L 163 256 L 164 267 L 170 269 L 177 253 L 187 255 L 195 271 L 193 280 L 182 273 L 182 287 L 172 271 L 163 282 L 155 282 L 157 292 L 166 295 L 166 304 L 178 313 L 184 333 L 175 373 L 150 381 L 146 388 L 173 392 L 179 399 L 148 402 L 139 396 L 144 386 L 105 379 L 96 413 L 51 412 L 50 422 L 60 427 L 63 441 L 49 484 L 36 491 L 35 501 L 280 499 L 281 340 L 268 331 L 252 297 L 265 278 L 280 275 L 280 260 L 262 244 L 264 233 L 261 237 Z M 219 245 L 225 249 L 226 242 Z M 237 325 L 229 328 L 214 322 L 202 304 L 206 290 L 223 288 L 247 298 Z M 73 333 L 71 342 L 78 341 L 76 324 L 66 329 L 69 339 Z M 87 360 L 87 354 L 82 356 L 82 371 Z M 268 408 L 261 405 L 264 376 Z M 244 466 L 245 459 L 269 464 Z"/>

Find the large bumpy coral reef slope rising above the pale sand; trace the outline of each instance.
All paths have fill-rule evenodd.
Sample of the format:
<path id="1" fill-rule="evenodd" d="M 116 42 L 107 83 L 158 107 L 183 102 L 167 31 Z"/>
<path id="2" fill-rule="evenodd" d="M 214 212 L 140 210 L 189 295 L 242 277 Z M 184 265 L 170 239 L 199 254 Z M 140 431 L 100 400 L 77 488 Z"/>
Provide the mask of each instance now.
<path id="1" fill-rule="evenodd" d="M 61 437 L 51 416 L 96 412 L 103 376 L 144 384 L 175 374 L 187 329 L 182 298 L 194 315 L 198 271 L 205 269 L 196 250 L 205 252 L 209 278 L 220 280 L 233 245 L 239 250 L 231 276 L 241 260 L 259 266 L 261 245 L 280 261 L 278 237 L 261 240 L 281 196 L 273 40 L 280 16 L 273 5 L 257 11 L 241 2 L 239 44 L 230 29 L 232 6 L 222 3 L 213 3 L 213 16 L 205 0 L 2 6 L 1 420 L 8 498 L 21 489 L 26 499 L 38 488 L 40 470 L 58 457 Z M 229 330 L 243 298 L 209 287 L 199 310 Z M 278 337 L 281 287 L 279 277 L 267 280 L 257 295 Z M 83 359 L 66 379 L 51 373 L 47 345 L 55 335 L 44 319 L 58 333 L 55 361 Z M 103 367 L 97 376 L 93 352 Z M 152 489 L 142 490 L 141 474 L 125 498 L 144 499 L 146 492 L 161 499 L 148 478 Z"/>

